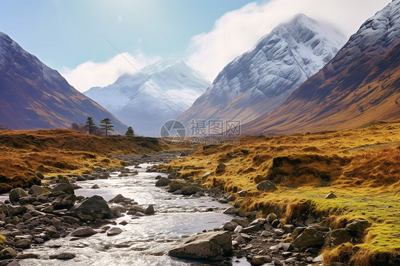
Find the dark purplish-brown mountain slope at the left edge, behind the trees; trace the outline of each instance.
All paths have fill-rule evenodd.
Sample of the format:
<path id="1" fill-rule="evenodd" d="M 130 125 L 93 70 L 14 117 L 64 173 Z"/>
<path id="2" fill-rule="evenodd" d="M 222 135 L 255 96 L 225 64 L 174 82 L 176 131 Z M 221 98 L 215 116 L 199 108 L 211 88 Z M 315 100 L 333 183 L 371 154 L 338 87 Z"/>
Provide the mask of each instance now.
<path id="1" fill-rule="evenodd" d="M 0 32 L 0 124 L 11 129 L 68 128 L 110 117 L 115 130 L 126 126 L 70 86 L 56 71 Z"/>

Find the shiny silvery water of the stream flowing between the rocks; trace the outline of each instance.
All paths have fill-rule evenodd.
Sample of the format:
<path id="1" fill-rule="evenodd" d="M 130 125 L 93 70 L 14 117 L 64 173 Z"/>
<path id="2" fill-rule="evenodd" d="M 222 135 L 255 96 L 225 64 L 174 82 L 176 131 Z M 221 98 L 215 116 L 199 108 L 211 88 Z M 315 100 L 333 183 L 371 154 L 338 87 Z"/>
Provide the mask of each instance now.
<path id="1" fill-rule="evenodd" d="M 109 179 L 79 182 L 83 188 L 75 190 L 77 196 L 100 195 L 109 201 L 117 194 L 133 198 L 140 205 L 154 204 L 156 213 L 132 219 L 125 215 L 116 222 L 127 221 L 127 225 L 110 225 L 121 228 L 120 235 L 107 236 L 98 233 L 88 238 L 67 236 L 50 240 L 43 245 L 35 245 L 24 252 L 40 255 L 38 260 L 21 260 L 21 266 L 27 265 L 202 265 L 201 262 L 181 260 L 167 255 L 167 250 L 189 235 L 202 230 L 219 228 L 222 223 L 231 220 L 223 214 L 228 208 L 214 198 L 200 198 L 173 195 L 163 188 L 154 186 L 154 176 L 159 173 L 147 173 L 150 164 L 141 164 L 142 169 L 136 176 L 118 177 L 112 173 Z M 132 167 L 127 167 L 132 169 Z M 161 174 L 164 175 L 164 174 Z M 97 183 L 100 188 L 92 189 Z M 74 252 L 73 260 L 49 260 L 49 255 L 60 252 Z M 232 265 L 249 265 L 245 259 L 232 260 Z"/>

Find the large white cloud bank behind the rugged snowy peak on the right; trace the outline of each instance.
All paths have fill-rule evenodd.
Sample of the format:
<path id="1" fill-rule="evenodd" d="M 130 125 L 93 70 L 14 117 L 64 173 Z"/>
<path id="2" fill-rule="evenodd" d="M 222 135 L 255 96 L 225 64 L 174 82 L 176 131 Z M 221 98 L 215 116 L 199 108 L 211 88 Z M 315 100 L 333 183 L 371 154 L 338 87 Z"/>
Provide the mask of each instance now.
<path id="1" fill-rule="evenodd" d="M 188 63 L 214 80 L 233 58 L 295 14 L 303 13 L 337 26 L 346 36 L 391 0 L 273 0 L 251 3 L 221 16 L 209 33 L 191 39 Z"/>

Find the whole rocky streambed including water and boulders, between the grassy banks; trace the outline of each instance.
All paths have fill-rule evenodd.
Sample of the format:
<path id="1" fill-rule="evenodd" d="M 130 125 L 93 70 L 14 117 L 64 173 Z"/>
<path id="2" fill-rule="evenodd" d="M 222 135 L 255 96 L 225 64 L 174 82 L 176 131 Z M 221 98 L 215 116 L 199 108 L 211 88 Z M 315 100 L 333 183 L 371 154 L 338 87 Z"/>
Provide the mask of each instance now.
<path id="1" fill-rule="evenodd" d="M 275 213 L 257 218 L 240 208 L 245 192 L 206 189 L 144 164 L 189 153 L 119 156 L 132 166 L 0 196 L 0 265 L 322 265 L 323 246 L 359 243 L 369 226 L 354 220 L 332 230 L 310 213 L 285 223 Z"/>

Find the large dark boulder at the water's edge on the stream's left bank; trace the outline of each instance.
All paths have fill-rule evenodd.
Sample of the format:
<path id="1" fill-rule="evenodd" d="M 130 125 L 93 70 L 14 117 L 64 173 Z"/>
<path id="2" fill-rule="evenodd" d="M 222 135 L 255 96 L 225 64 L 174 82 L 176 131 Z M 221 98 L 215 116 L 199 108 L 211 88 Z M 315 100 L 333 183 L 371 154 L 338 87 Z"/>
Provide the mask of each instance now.
<path id="1" fill-rule="evenodd" d="M 110 207 L 101 196 L 92 196 L 70 209 L 70 214 L 80 220 L 102 219 L 110 215 Z"/>

